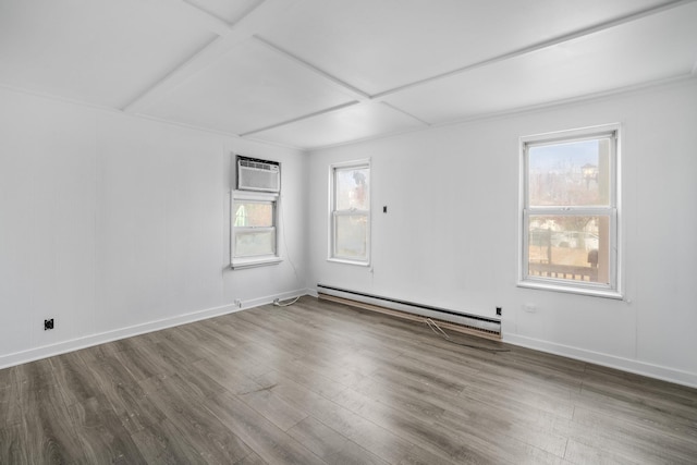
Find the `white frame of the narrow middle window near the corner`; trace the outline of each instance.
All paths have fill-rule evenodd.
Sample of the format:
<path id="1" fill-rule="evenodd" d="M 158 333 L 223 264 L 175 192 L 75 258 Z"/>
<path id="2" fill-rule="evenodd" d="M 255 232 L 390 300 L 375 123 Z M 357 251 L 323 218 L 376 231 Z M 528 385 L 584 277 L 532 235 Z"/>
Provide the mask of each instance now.
<path id="1" fill-rule="evenodd" d="M 370 234 L 371 234 L 371 212 L 372 212 L 372 176 L 370 176 L 368 184 L 368 209 L 344 209 L 338 210 L 337 207 L 337 171 L 350 170 L 350 169 L 367 169 L 371 173 L 370 159 L 353 160 L 339 163 L 332 163 L 329 166 L 329 237 L 328 237 L 328 260 L 339 264 L 357 265 L 363 267 L 370 266 Z M 346 217 L 351 215 L 362 215 L 366 218 L 366 257 L 365 259 L 354 259 L 337 255 L 337 219 L 340 217 Z"/>

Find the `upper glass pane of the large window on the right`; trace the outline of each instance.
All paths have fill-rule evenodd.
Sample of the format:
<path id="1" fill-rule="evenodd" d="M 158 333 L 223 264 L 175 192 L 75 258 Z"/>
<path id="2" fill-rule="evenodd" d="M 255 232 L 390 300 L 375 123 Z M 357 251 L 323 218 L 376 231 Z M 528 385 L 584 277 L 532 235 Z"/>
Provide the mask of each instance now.
<path id="1" fill-rule="evenodd" d="M 610 204 L 610 138 L 531 146 L 529 206 Z"/>

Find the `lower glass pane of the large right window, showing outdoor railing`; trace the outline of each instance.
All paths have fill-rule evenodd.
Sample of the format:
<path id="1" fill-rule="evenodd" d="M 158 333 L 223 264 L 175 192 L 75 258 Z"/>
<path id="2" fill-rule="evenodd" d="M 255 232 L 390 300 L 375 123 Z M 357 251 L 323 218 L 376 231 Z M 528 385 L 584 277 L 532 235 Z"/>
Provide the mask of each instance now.
<path id="1" fill-rule="evenodd" d="M 538 216 L 528 221 L 528 276 L 610 282 L 610 217 Z"/>

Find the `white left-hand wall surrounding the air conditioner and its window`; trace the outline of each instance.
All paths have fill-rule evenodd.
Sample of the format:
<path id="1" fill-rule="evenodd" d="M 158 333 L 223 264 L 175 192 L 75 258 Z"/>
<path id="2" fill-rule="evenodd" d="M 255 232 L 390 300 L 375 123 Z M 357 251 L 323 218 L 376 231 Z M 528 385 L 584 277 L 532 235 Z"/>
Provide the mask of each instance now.
<path id="1" fill-rule="evenodd" d="M 278 266 L 228 267 L 231 152 L 282 163 Z M 305 293 L 306 157 L 0 89 L 0 368 Z"/>

